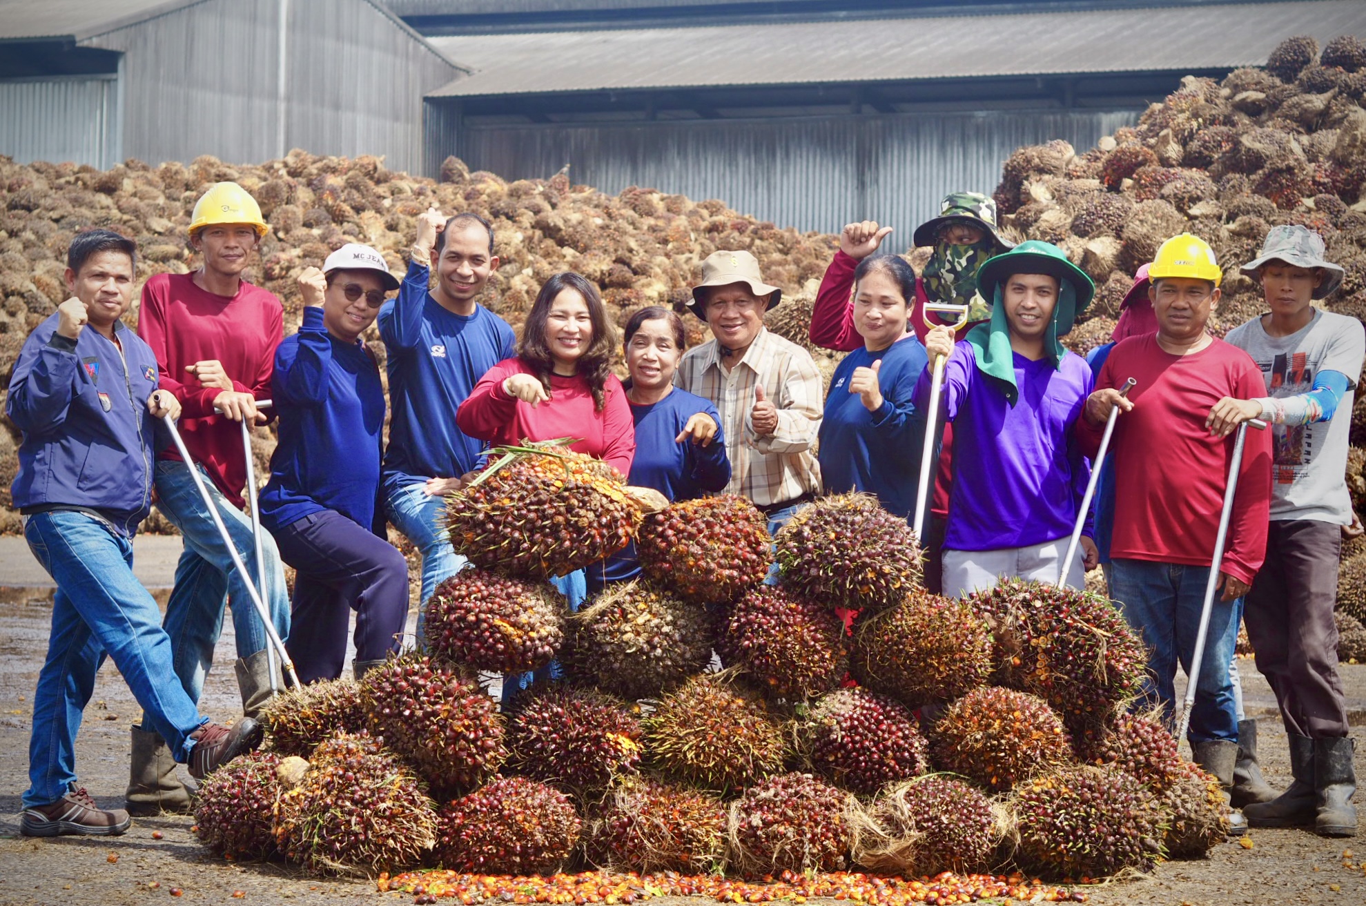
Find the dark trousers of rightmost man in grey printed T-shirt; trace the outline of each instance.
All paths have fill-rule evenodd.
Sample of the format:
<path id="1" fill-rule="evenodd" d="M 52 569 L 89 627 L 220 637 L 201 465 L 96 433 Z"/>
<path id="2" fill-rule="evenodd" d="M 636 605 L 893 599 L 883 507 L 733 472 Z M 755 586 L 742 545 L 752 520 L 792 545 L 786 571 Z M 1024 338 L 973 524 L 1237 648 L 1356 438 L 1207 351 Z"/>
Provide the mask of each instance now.
<path id="1" fill-rule="evenodd" d="M 1285 731 L 1313 739 L 1347 735 L 1333 623 L 1340 548 L 1341 529 L 1332 522 L 1272 521 L 1266 562 L 1243 612 Z"/>

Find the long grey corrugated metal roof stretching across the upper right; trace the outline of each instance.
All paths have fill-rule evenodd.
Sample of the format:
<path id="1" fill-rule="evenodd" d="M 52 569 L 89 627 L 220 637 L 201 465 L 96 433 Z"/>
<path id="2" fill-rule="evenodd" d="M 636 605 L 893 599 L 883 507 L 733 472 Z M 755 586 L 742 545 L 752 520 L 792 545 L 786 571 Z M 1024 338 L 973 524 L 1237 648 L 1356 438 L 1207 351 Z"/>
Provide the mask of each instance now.
<path id="1" fill-rule="evenodd" d="M 1259 66 L 1366 36 L 1362 0 L 428 38 L 473 75 L 428 97 Z"/>

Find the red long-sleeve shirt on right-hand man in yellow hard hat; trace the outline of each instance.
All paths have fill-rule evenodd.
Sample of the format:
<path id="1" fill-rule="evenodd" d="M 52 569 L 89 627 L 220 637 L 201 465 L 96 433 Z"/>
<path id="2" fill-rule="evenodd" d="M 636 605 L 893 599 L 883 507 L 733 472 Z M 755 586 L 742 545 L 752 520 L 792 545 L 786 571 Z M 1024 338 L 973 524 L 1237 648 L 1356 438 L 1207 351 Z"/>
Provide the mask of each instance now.
<path id="1" fill-rule="evenodd" d="M 1209 566 L 1236 435 L 1205 429 L 1210 407 L 1224 396 L 1250 399 L 1266 392 L 1257 363 L 1240 348 L 1213 340 L 1191 355 L 1172 355 L 1157 335 L 1134 336 L 1111 350 L 1096 389 L 1132 377 L 1132 411 L 1115 422 L 1115 534 L 1111 556 Z M 1105 425 L 1076 420 L 1082 451 L 1094 458 Z M 1247 429 L 1243 466 L 1220 567 L 1251 582 L 1266 555 L 1272 499 L 1272 441 Z"/>

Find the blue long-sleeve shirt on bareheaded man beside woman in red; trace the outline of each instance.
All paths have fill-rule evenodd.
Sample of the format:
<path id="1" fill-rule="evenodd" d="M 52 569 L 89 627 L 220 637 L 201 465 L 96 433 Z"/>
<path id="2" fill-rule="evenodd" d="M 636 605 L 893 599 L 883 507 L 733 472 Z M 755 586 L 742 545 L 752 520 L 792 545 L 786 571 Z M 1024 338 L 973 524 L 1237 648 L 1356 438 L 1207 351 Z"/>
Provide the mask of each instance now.
<path id="1" fill-rule="evenodd" d="M 448 312 L 428 292 L 428 279 L 429 269 L 411 262 L 399 295 L 380 309 L 393 406 L 385 492 L 478 467 L 484 441 L 456 428 L 455 410 L 485 372 L 516 354 L 507 321 L 484 306 L 470 316 Z"/>

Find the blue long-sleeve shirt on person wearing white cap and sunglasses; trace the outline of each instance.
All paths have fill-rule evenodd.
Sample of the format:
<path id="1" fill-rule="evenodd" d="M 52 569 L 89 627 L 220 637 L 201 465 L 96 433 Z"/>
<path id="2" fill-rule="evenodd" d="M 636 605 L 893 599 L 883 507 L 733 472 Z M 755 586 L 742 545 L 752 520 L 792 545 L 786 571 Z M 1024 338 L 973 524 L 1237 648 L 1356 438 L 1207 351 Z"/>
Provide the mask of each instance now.
<path id="1" fill-rule="evenodd" d="M 261 522 L 275 532 L 335 510 L 370 529 L 380 489 L 384 387 L 363 343 L 344 343 L 303 309 L 299 332 L 275 351 L 272 399 L 280 443 L 261 492 Z"/>

